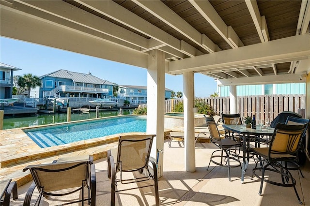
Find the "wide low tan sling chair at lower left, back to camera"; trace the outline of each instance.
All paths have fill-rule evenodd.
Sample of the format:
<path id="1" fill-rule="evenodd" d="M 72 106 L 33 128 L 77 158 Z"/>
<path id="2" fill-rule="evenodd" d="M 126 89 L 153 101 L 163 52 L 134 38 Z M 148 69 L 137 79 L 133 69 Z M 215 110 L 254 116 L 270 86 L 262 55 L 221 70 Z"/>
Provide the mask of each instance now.
<path id="1" fill-rule="evenodd" d="M 78 160 L 79 159 L 79 160 Z M 69 162 L 67 162 L 69 160 Z M 74 160 L 74 161 L 71 161 Z M 88 201 L 88 205 L 96 206 L 96 174 L 92 157 L 77 157 L 74 159 L 59 159 L 50 164 L 29 165 L 23 172 L 30 170 L 33 183 L 28 189 L 24 206 L 29 206 L 35 188 L 39 196 L 34 205 L 39 205 L 42 196 L 63 196 L 81 191 L 81 199 L 62 205 Z M 88 190 L 88 197 L 84 197 L 84 188 Z"/>

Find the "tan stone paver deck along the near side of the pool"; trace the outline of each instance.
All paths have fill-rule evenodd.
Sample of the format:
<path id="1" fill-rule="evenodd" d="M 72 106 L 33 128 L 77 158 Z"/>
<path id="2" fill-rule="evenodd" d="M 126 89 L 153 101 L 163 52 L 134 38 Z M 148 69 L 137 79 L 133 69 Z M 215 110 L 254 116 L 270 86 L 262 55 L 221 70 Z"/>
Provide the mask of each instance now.
<path id="1" fill-rule="evenodd" d="M 33 128 L 37 127 L 46 127 L 46 125 Z M 27 127 L 27 129 L 29 128 Z M 60 146 L 41 148 L 22 129 L 25 128 L 0 131 L 0 180 L 12 178 L 13 181 L 17 182 L 17 186 L 31 181 L 30 172 L 22 172 L 27 165 L 50 163 L 59 157 L 85 154 L 93 155 L 94 160 L 106 158 L 107 151 L 112 147 L 117 147 L 120 135 L 144 133 L 118 133 Z M 166 130 L 166 132 L 169 131 Z"/>

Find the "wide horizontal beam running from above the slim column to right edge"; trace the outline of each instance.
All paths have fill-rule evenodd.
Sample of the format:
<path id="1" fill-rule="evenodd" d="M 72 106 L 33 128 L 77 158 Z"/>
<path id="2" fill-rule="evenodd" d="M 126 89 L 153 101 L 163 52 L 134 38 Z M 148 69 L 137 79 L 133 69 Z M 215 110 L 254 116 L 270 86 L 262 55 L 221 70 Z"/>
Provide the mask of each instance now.
<path id="1" fill-rule="evenodd" d="M 255 51 L 255 52 L 253 52 Z M 310 59 L 310 34 L 169 62 L 169 73 L 202 72 Z"/>

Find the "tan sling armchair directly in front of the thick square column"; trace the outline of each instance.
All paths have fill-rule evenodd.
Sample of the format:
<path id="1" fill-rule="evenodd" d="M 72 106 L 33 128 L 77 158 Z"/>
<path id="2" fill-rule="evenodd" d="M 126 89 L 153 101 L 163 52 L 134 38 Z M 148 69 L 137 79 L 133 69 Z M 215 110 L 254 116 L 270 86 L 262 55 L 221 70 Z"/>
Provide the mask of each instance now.
<path id="1" fill-rule="evenodd" d="M 154 186 L 156 206 L 159 205 L 156 163 L 153 160 L 150 161 L 151 147 L 155 136 L 155 134 L 120 136 L 118 148 L 112 148 L 108 151 L 107 162 L 108 177 L 111 178 L 111 206 L 115 205 L 116 192 L 152 186 Z M 153 171 L 150 171 L 149 162 L 152 164 Z M 139 171 L 138 174 L 137 171 Z M 120 172 L 119 175 L 117 172 Z M 135 177 L 128 176 L 128 174 Z M 150 179 L 154 180 L 154 184 L 146 183 L 140 185 L 139 183 Z M 135 183 L 136 186 L 118 190 L 117 185 L 119 183 Z"/>

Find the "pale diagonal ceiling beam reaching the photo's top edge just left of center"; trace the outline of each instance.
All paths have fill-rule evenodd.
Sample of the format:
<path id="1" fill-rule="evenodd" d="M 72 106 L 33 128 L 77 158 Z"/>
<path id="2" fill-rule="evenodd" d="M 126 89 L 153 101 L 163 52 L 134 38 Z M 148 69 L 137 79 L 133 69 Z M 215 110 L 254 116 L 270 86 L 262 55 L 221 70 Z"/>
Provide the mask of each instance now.
<path id="1" fill-rule="evenodd" d="M 195 44 L 199 45 L 203 49 L 206 49 L 205 46 L 202 45 L 202 34 L 193 28 L 190 24 L 184 21 L 179 15 L 175 14 L 168 6 L 166 6 L 163 2 L 157 0 L 132 0 L 141 8 L 145 9 L 152 15 L 156 16 L 161 21 L 165 22 L 171 28 L 177 30 L 188 39 L 193 41 Z M 211 41 L 211 40 L 210 40 Z M 206 49 L 208 52 L 216 52 L 210 48 L 216 47 L 212 41 L 207 45 Z"/>

